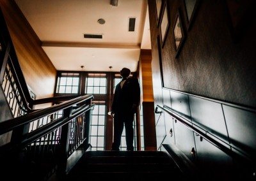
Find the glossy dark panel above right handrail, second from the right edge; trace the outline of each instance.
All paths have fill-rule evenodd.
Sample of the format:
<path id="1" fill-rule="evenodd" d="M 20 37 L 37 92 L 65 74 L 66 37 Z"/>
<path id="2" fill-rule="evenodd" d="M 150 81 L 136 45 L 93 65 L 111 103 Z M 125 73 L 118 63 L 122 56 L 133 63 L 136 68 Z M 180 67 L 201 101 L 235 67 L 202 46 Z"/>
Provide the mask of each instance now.
<path id="1" fill-rule="evenodd" d="M 189 96 L 193 124 L 228 143 L 227 127 L 220 103 Z"/>

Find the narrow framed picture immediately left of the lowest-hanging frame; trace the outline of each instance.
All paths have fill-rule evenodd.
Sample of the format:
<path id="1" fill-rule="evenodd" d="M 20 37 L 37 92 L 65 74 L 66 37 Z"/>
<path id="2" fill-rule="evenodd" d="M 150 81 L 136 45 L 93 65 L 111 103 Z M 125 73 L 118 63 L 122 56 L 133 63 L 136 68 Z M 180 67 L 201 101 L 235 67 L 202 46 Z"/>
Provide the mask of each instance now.
<path id="1" fill-rule="evenodd" d="M 162 48 L 164 47 L 164 43 L 166 40 L 166 36 L 168 34 L 169 27 L 170 27 L 170 18 L 169 18 L 169 13 L 168 13 L 168 6 L 167 6 L 167 2 L 164 1 L 163 13 L 162 13 L 162 17 L 160 20 L 160 27 L 159 27 Z"/>

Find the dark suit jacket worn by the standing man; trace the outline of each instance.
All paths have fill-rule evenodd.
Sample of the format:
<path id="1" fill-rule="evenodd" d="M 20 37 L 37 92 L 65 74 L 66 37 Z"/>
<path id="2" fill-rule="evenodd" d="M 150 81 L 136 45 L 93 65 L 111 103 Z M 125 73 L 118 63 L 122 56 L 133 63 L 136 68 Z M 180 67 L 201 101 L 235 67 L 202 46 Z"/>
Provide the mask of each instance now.
<path id="1" fill-rule="evenodd" d="M 140 85 L 137 78 L 127 78 L 123 87 L 121 82 L 116 85 L 111 112 L 118 115 L 134 113 L 134 106 L 140 104 Z M 135 107 L 136 107 L 135 106 Z"/>

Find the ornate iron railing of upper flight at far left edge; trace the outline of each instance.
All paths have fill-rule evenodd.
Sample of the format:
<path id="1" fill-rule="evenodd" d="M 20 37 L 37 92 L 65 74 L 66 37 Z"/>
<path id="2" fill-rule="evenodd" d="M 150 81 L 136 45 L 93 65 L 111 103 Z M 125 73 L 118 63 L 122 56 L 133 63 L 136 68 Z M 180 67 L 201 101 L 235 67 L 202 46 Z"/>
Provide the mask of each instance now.
<path id="1" fill-rule="evenodd" d="M 10 42 L 6 47 L 3 64 L 1 65 L 0 84 L 13 117 L 31 112 L 33 99 L 29 96 L 26 81 L 17 61 L 13 45 Z"/>

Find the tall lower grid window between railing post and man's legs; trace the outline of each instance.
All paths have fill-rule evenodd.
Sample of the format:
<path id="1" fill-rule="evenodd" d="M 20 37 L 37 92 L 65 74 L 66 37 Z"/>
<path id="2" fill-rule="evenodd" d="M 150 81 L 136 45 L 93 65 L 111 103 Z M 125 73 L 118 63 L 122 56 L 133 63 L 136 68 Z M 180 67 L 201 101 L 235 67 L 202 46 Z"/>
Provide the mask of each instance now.
<path id="1" fill-rule="evenodd" d="M 104 150 L 106 129 L 106 105 L 104 101 L 93 101 L 92 122 L 90 124 L 90 144 L 92 150 Z"/>

